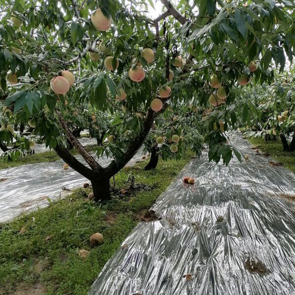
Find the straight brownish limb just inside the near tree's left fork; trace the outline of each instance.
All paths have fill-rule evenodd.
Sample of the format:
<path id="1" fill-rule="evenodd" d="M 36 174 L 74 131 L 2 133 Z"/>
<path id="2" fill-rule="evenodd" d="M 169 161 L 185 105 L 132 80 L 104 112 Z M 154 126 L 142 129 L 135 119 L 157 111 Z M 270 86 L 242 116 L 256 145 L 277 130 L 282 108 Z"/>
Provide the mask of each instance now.
<path id="1" fill-rule="evenodd" d="M 59 116 L 61 127 L 66 131 L 66 136 L 68 140 L 71 142 L 71 144 L 79 151 L 79 153 L 82 155 L 85 161 L 89 164 L 92 170 L 94 171 L 102 170 L 102 167 L 94 160 L 94 158 L 89 154 L 89 152 L 80 144 L 77 138 L 73 135 L 72 131 L 70 130 L 65 120 L 63 119 L 61 113 L 58 110 L 56 110 L 56 112 Z"/>

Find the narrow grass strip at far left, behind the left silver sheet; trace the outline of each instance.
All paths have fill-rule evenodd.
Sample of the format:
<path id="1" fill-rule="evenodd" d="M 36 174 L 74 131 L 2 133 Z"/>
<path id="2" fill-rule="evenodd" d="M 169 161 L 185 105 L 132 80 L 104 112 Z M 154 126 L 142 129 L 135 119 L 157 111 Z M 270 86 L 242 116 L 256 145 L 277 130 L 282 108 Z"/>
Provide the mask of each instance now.
<path id="1" fill-rule="evenodd" d="M 92 151 L 94 149 L 94 145 L 88 145 L 86 146 L 86 149 L 88 151 Z M 72 154 L 78 154 L 78 152 L 73 149 Z M 35 153 L 32 155 L 26 155 L 24 157 L 21 157 L 17 161 L 4 161 L 3 159 L 0 159 L 0 170 L 11 168 L 11 167 L 17 167 L 22 166 L 25 164 L 35 164 L 35 163 L 41 163 L 41 162 L 54 162 L 60 160 L 58 154 L 54 150 L 44 151 L 40 153 Z"/>

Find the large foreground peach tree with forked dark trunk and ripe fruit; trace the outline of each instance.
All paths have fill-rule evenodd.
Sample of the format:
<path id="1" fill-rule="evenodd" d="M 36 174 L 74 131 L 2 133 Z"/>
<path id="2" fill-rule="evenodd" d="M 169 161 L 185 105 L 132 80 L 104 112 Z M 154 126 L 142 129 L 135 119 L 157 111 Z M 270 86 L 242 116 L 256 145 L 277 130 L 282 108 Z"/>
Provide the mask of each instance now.
<path id="1" fill-rule="evenodd" d="M 160 0 L 155 18 L 148 14 L 154 1 L 148 3 L 0 0 L 4 106 L 19 123 L 35 122 L 34 133 L 91 181 L 95 200 L 110 198 L 109 179 L 169 105 L 202 109 L 209 159 L 228 164 L 233 152 L 239 156 L 224 134 L 236 128 L 239 96 L 252 84 L 270 83 L 273 67 L 283 71 L 286 57 L 293 59 L 291 1 L 178 0 L 174 6 Z M 73 133 L 73 109 L 82 104 L 113 117 L 96 149 L 98 156 L 113 155 L 108 167 Z M 67 142 L 88 166 L 71 155 Z"/>

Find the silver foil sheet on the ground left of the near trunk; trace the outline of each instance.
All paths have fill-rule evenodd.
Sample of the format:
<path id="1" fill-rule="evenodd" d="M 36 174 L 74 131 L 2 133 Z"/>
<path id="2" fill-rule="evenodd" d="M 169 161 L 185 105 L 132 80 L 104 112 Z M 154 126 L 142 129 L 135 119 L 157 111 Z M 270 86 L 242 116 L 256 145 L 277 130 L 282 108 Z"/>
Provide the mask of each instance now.
<path id="1" fill-rule="evenodd" d="M 81 143 L 89 145 L 92 141 L 83 138 Z M 140 148 L 127 165 L 134 165 L 141 160 L 142 154 L 143 148 Z M 86 165 L 81 156 L 76 158 Z M 103 167 L 110 161 L 111 159 L 106 157 L 99 159 Z M 10 220 L 36 207 L 45 207 L 49 204 L 48 198 L 51 200 L 63 198 L 69 190 L 89 182 L 71 168 L 63 170 L 63 164 L 64 162 L 59 160 L 0 170 L 0 222 Z"/>

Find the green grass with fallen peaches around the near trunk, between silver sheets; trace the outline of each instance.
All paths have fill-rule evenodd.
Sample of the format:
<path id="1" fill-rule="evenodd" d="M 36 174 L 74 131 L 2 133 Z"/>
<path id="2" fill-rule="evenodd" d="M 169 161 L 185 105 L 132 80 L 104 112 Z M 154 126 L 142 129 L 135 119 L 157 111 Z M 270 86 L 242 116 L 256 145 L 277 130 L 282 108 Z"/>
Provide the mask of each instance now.
<path id="1" fill-rule="evenodd" d="M 38 294 L 86 295 L 105 263 L 140 221 L 140 214 L 150 208 L 192 155 L 187 153 L 180 161 L 160 160 L 153 171 L 143 169 L 148 159 L 122 169 L 116 176 L 116 187 L 126 189 L 130 175 L 134 175 L 135 184 L 150 187 L 125 200 L 96 204 L 85 200 L 91 190 L 81 188 L 48 207 L 0 224 L 0 294 L 16 294 L 25 287 L 29 293 L 20 294 L 32 294 L 33 287 L 41 285 L 44 292 Z M 21 234 L 22 228 L 26 232 Z M 104 236 L 104 242 L 94 247 L 89 236 L 95 232 Z M 46 237 L 50 238 L 46 241 Z M 89 257 L 81 259 L 79 249 L 90 251 Z"/>

